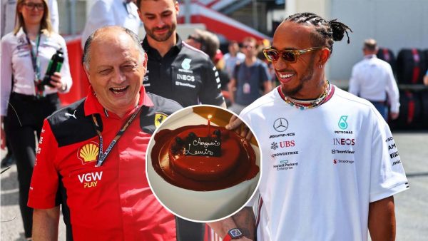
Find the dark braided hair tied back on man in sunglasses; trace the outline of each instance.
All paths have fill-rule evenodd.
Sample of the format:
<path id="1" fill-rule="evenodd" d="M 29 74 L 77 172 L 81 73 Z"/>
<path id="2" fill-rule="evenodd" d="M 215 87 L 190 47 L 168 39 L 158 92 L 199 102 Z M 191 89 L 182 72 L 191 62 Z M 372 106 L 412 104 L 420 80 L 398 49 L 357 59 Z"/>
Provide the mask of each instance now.
<path id="1" fill-rule="evenodd" d="M 297 24 L 313 25 L 315 33 L 312 35 L 312 43 L 316 46 L 327 46 L 330 53 L 333 52 L 333 41 L 341 41 L 344 34 L 347 36 L 347 43 L 350 43 L 348 30 L 352 32 L 350 27 L 333 19 L 326 21 L 317 14 L 300 13 L 288 16 L 284 21 L 292 21 Z"/>

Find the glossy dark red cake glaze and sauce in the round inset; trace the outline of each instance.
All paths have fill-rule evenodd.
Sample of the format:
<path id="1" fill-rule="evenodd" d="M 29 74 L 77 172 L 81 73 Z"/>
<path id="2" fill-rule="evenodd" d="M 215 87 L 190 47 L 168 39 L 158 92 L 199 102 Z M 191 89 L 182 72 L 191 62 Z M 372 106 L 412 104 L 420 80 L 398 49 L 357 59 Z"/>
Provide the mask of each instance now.
<path id="1" fill-rule="evenodd" d="M 257 175 L 255 152 L 245 138 L 219 126 L 160 130 L 153 168 L 168 183 L 190 190 L 220 190 Z"/>

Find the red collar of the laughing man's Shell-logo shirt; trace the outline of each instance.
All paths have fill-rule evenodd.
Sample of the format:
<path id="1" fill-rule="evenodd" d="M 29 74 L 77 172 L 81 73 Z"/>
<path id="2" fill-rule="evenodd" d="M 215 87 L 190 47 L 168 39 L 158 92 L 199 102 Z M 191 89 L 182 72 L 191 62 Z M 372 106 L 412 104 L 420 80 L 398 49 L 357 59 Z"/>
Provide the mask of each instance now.
<path id="1" fill-rule="evenodd" d="M 144 86 L 141 86 L 140 89 L 140 99 L 138 100 L 137 107 L 141 106 L 153 106 L 153 102 L 151 98 L 147 95 Z M 101 103 L 99 103 L 98 98 L 96 98 L 96 94 L 93 91 L 92 86 L 89 86 L 88 95 L 86 96 L 86 101 L 84 104 L 85 108 L 85 116 L 90 116 L 92 114 L 100 114 L 101 116 L 109 116 L 111 115 L 111 111 L 107 111 Z M 133 108 L 131 111 L 126 113 L 125 116 L 131 115 L 137 108 Z"/>

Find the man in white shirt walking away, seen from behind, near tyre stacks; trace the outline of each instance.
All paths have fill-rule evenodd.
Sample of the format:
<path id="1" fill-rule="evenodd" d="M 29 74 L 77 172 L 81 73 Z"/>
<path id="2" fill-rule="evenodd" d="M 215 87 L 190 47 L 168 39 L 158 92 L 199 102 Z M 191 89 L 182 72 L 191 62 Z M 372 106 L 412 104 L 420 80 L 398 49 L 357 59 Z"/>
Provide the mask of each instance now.
<path id="1" fill-rule="evenodd" d="M 385 120 L 388 120 L 389 101 L 390 116 L 394 120 L 399 115 L 398 86 L 389 63 L 377 58 L 378 50 L 374 39 L 364 41 L 364 59 L 352 68 L 348 91 L 370 101 Z"/>

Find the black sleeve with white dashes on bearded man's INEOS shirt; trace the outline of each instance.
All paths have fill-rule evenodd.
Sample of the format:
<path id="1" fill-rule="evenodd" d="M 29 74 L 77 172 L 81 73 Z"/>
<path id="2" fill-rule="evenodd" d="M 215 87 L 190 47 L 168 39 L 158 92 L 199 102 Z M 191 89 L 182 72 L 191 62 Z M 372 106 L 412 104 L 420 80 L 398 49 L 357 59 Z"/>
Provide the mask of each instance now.
<path id="1" fill-rule="evenodd" d="M 203 87 L 199 93 L 199 101 L 203 104 L 220 106 L 225 102 L 221 93 L 220 76 L 214 64 L 207 60 L 203 65 L 205 73 L 203 73 Z"/>

